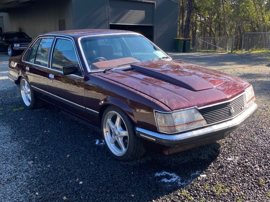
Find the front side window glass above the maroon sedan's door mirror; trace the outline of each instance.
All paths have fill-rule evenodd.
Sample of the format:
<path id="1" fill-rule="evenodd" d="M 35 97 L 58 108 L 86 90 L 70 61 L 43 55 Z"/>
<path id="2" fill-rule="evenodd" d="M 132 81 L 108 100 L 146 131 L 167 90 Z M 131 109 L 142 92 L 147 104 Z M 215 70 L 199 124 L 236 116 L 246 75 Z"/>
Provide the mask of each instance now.
<path id="1" fill-rule="evenodd" d="M 52 69 L 62 71 L 62 68 L 68 65 L 79 67 L 73 43 L 70 40 L 57 39 L 53 50 Z"/>

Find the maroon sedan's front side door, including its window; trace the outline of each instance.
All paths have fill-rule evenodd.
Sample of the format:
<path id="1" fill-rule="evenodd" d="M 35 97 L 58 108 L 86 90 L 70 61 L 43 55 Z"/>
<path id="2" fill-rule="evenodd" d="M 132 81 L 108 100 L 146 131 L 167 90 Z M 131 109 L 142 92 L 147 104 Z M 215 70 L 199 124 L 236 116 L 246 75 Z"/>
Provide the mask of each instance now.
<path id="1" fill-rule="evenodd" d="M 64 75 L 63 67 L 68 65 L 77 65 L 79 72 Z M 83 71 L 71 39 L 56 37 L 47 72 L 47 83 L 50 95 L 63 103 L 57 104 L 58 106 L 75 114 L 86 111 Z"/>

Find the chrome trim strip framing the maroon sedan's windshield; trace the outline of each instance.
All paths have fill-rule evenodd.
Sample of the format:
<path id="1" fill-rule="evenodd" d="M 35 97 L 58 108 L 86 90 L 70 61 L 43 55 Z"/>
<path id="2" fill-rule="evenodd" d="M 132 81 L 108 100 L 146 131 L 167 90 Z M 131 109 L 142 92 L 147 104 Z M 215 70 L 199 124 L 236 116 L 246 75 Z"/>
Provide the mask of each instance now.
<path id="1" fill-rule="evenodd" d="M 92 73 L 92 72 L 103 72 L 104 69 L 102 70 L 91 70 L 87 64 L 87 61 L 86 61 L 86 57 L 85 57 L 85 54 L 83 52 L 83 49 L 82 49 L 82 44 L 81 44 L 81 40 L 84 39 L 84 38 L 89 38 L 89 37 L 96 37 L 96 36 L 112 36 L 112 35 L 126 35 L 126 34 L 131 34 L 131 35 L 139 35 L 141 37 L 143 37 L 144 39 L 147 39 L 146 37 L 144 37 L 142 34 L 139 34 L 139 33 L 108 33 L 108 34 L 95 34 L 95 35 L 90 35 L 90 36 L 82 36 L 82 37 L 79 37 L 78 39 L 78 44 L 79 44 L 79 47 L 80 47 L 80 51 L 82 53 L 82 56 L 83 56 L 83 60 L 85 62 L 85 66 L 86 66 L 86 69 L 89 73 Z M 151 44 L 153 44 L 154 46 L 158 47 L 156 44 L 154 44 L 152 41 L 150 41 L 149 39 L 147 39 Z M 159 48 L 159 47 L 158 47 Z M 161 48 L 159 48 L 161 50 Z M 164 55 L 167 55 L 163 50 L 161 50 L 161 52 L 164 54 Z M 168 56 L 168 55 L 167 55 Z M 172 58 L 170 56 L 168 56 L 168 60 L 172 60 Z M 116 67 L 117 68 L 117 67 Z M 124 67 L 120 67 L 120 68 L 124 68 Z"/>

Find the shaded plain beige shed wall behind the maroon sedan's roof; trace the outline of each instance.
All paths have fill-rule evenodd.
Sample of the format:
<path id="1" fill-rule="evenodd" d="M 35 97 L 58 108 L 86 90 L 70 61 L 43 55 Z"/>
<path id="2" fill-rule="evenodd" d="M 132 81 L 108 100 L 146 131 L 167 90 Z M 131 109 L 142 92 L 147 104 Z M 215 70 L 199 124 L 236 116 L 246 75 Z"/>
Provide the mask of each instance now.
<path id="1" fill-rule="evenodd" d="M 33 2 L 32 7 L 9 9 L 5 31 L 22 31 L 30 37 L 59 30 L 59 20 L 65 19 L 66 30 L 73 29 L 72 0 Z"/>

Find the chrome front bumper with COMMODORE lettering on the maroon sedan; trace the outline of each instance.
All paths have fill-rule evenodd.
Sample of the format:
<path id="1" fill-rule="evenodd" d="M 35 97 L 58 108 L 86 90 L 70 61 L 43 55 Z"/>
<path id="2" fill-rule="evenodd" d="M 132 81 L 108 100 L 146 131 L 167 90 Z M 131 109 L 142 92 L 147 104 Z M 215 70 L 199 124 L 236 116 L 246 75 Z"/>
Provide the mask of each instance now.
<path id="1" fill-rule="evenodd" d="M 234 119 L 208 127 L 185 131 L 183 133 L 168 135 L 149 131 L 139 127 L 135 127 L 135 131 L 138 137 L 171 147 L 189 144 L 191 142 L 201 141 L 204 139 L 208 139 L 209 141 L 209 138 L 213 138 L 213 140 L 217 141 L 218 139 L 225 138 L 236 128 L 247 122 L 257 112 L 257 108 L 258 105 L 253 103 L 248 107 L 248 109 Z M 217 137 L 220 138 L 217 139 Z"/>

